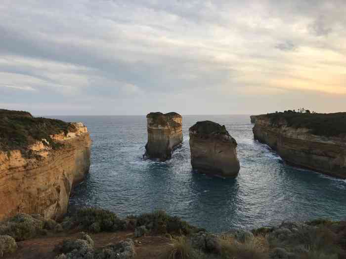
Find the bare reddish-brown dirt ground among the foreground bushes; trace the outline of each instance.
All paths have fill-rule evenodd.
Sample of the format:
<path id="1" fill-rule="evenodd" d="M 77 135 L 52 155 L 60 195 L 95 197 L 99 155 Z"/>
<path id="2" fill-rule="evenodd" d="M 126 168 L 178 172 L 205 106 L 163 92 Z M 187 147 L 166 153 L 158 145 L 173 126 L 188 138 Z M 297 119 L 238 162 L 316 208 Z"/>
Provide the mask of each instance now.
<path id="1" fill-rule="evenodd" d="M 3 259 L 54 259 L 57 253 L 53 252 L 55 245 L 64 239 L 76 239 L 78 233 L 61 233 L 51 236 L 43 236 L 22 242 L 17 242 L 18 250 L 5 255 Z M 172 240 L 162 236 L 145 236 L 134 238 L 133 231 L 98 234 L 90 234 L 95 242 L 95 248 L 104 247 L 111 243 L 118 243 L 126 238 L 131 238 L 135 242 L 135 259 L 155 259 L 167 251 L 173 244 Z"/>

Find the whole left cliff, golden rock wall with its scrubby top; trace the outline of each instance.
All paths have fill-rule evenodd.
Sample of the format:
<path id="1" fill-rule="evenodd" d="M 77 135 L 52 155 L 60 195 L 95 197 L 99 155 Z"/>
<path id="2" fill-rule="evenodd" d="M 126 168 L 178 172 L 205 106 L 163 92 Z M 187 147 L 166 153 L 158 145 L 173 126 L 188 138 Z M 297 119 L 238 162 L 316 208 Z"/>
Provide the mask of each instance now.
<path id="1" fill-rule="evenodd" d="M 0 220 L 19 212 L 61 217 L 89 170 L 87 127 L 28 114 L 0 110 Z"/>

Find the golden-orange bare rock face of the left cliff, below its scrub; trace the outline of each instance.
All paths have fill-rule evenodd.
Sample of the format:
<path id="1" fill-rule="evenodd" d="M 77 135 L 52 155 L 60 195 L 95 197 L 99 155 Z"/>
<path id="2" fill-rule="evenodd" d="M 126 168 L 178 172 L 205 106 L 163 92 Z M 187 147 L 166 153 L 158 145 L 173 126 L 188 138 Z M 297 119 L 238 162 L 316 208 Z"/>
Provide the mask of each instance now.
<path id="1" fill-rule="evenodd" d="M 87 127 L 73 123 L 73 131 L 51 135 L 62 147 L 45 139 L 23 150 L 0 151 L 0 221 L 19 212 L 59 218 L 66 213 L 73 185 L 89 171 L 91 140 Z"/>

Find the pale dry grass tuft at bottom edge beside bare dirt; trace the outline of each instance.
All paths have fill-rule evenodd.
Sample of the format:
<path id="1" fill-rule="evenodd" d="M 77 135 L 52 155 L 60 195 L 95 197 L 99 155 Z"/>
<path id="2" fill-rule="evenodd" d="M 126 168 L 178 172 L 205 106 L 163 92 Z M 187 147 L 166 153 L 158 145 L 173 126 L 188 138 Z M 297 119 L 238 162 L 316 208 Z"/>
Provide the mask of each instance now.
<path id="1" fill-rule="evenodd" d="M 203 259 L 204 254 L 192 248 L 185 237 L 178 237 L 172 249 L 162 255 L 162 259 Z"/>

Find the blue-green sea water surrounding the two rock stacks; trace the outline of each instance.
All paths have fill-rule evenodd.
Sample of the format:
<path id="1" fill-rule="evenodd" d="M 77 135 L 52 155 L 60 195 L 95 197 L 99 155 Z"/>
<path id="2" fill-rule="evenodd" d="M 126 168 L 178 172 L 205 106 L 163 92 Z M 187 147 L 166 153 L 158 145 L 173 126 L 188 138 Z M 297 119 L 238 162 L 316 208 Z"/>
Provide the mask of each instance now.
<path id="1" fill-rule="evenodd" d="M 346 181 L 286 165 L 253 139 L 248 115 L 183 116 L 183 144 L 164 163 L 143 160 L 145 116 L 54 116 L 87 125 L 93 141 L 90 174 L 70 199 L 120 216 L 164 209 L 220 232 L 283 220 L 346 217 Z M 199 120 L 224 124 L 238 142 L 236 179 L 198 174 L 190 164 L 188 128 Z"/>

